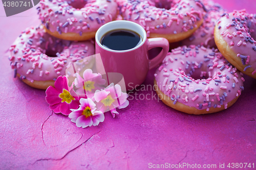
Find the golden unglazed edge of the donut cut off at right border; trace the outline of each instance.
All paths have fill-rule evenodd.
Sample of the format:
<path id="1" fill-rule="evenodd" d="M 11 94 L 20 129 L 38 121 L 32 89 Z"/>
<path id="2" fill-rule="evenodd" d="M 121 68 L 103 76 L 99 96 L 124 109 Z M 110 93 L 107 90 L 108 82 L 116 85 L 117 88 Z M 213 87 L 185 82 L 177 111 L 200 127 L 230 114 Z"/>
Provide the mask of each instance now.
<path id="1" fill-rule="evenodd" d="M 244 71 L 244 68 L 246 65 L 243 65 L 241 62 L 241 58 L 237 57 L 237 54 L 234 53 L 230 47 L 228 47 L 227 42 L 220 35 L 220 31 L 218 29 L 217 24 L 214 29 L 214 39 L 215 39 L 215 43 L 216 43 L 219 51 L 227 59 L 228 62 L 230 62 L 234 67 L 239 69 L 245 75 L 248 75 L 248 76 L 256 79 L 256 74 L 254 74 L 254 75 L 251 74 L 252 71 L 254 70 L 252 67 L 247 68 L 246 71 Z"/>

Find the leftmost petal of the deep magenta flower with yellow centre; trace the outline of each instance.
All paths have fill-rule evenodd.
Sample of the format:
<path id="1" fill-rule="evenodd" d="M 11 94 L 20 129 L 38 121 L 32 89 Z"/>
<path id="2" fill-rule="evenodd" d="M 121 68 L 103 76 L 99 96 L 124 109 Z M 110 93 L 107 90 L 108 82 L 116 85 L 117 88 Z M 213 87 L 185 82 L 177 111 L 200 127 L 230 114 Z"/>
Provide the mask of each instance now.
<path id="1" fill-rule="evenodd" d="M 55 105 L 61 102 L 61 98 L 59 97 L 60 92 L 58 92 L 54 87 L 49 86 L 46 89 L 46 102 L 49 105 Z"/>

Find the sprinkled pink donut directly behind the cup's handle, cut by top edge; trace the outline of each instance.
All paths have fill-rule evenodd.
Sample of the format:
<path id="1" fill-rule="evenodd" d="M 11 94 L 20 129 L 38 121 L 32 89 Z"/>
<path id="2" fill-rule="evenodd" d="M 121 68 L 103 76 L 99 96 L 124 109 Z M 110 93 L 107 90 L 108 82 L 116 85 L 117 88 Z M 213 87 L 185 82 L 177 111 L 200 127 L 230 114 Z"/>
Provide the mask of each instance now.
<path id="1" fill-rule="evenodd" d="M 147 37 L 163 37 L 177 42 L 189 37 L 203 22 L 205 7 L 199 0 L 174 1 L 169 10 L 154 6 L 151 1 L 121 0 L 123 19 L 141 25 Z"/>

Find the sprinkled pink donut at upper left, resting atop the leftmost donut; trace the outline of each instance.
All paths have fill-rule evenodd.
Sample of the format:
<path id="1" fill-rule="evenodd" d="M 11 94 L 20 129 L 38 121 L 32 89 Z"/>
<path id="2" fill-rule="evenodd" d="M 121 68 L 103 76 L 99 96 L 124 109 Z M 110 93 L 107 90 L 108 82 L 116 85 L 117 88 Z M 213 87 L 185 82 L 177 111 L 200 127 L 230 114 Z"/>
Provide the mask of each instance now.
<path id="1" fill-rule="evenodd" d="M 39 18 L 50 35 L 72 41 L 95 37 L 106 22 L 116 19 L 116 0 L 41 0 Z"/>

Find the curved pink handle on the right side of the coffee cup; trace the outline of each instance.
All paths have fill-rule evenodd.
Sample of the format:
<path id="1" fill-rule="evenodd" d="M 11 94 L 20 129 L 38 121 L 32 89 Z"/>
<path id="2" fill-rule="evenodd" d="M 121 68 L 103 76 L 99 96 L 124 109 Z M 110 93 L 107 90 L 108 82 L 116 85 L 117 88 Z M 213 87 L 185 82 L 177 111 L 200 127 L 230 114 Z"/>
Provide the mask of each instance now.
<path id="1" fill-rule="evenodd" d="M 160 64 L 166 57 L 169 51 L 169 42 L 165 38 L 148 38 L 147 39 L 147 50 L 151 50 L 155 47 L 162 47 L 163 50 L 153 59 L 150 60 L 150 69 Z"/>

